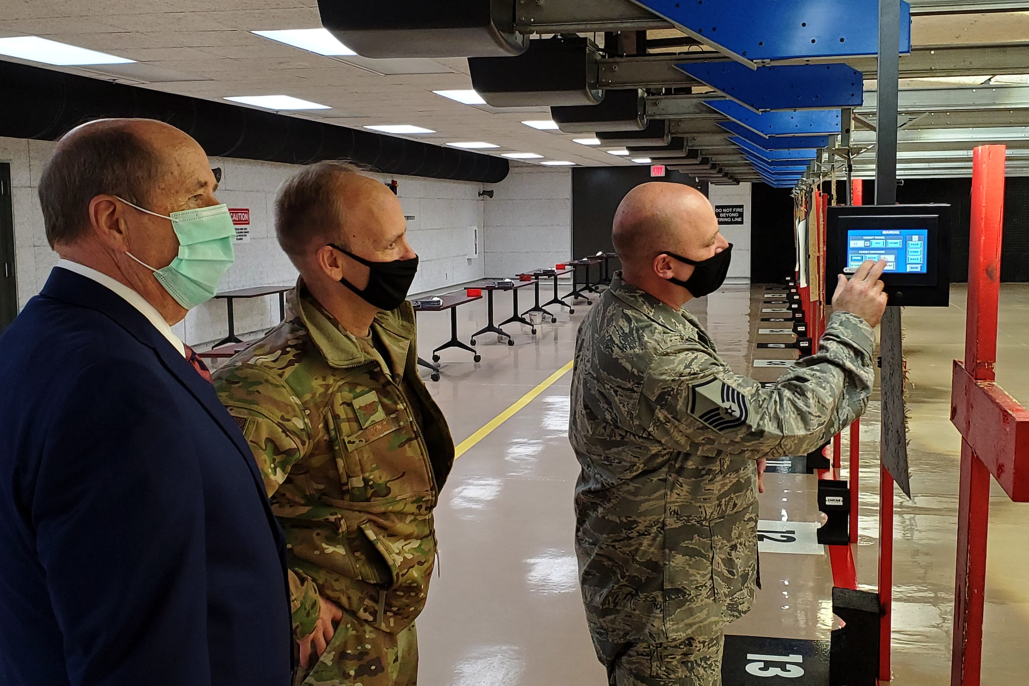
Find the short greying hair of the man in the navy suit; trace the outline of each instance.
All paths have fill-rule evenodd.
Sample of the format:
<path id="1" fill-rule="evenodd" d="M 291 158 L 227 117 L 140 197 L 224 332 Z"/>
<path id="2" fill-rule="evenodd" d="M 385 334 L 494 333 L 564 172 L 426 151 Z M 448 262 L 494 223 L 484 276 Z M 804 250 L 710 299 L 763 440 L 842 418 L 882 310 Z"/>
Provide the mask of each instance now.
<path id="1" fill-rule="evenodd" d="M 94 125 L 62 140 L 39 179 L 46 241 L 52 248 L 81 238 L 90 225 L 90 202 L 118 195 L 147 207 L 161 179 L 161 155 L 130 128 Z"/>

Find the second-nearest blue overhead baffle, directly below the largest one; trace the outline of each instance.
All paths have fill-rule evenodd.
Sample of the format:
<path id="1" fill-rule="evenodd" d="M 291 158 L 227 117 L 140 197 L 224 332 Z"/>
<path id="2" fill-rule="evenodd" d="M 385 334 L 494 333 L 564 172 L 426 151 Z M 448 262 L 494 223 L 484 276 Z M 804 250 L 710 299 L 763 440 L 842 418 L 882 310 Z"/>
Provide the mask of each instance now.
<path id="1" fill-rule="evenodd" d="M 676 69 L 755 112 L 860 107 L 864 75 L 844 64 L 750 69 L 739 62 L 695 62 Z"/>

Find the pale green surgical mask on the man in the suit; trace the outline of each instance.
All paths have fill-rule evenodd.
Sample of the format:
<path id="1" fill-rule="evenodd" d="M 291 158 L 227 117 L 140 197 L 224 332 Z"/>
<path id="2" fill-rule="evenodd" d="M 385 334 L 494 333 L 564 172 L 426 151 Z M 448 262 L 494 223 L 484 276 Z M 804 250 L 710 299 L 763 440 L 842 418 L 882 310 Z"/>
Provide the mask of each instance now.
<path id="1" fill-rule="evenodd" d="M 233 226 L 228 207 L 215 205 L 182 210 L 166 217 L 133 205 L 122 197 L 118 200 L 140 212 L 171 220 L 172 229 L 179 239 L 179 254 L 171 264 L 159 269 L 153 268 L 131 252 L 127 251 L 126 254 L 153 272 L 157 283 L 186 310 L 192 310 L 213 298 L 218 292 L 221 278 L 236 259 L 233 251 L 236 227 Z"/>

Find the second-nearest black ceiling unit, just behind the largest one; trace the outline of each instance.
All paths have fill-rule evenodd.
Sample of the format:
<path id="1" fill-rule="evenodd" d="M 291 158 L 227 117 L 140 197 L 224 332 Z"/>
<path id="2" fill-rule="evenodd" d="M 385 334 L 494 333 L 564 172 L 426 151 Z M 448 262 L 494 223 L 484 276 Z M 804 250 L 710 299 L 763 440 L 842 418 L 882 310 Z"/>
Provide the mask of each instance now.
<path id="1" fill-rule="evenodd" d="M 471 85 L 493 107 L 596 105 L 600 52 L 592 40 L 556 36 L 530 40 L 525 55 L 468 58 Z"/>

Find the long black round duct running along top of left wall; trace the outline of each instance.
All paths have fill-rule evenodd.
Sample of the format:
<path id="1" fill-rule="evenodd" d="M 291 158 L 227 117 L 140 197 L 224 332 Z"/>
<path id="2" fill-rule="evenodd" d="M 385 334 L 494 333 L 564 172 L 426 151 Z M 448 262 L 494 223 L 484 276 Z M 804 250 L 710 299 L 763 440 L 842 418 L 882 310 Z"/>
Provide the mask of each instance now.
<path id="1" fill-rule="evenodd" d="M 0 62 L 0 136 L 56 140 L 101 117 L 144 117 L 186 132 L 212 156 L 306 165 L 348 159 L 384 174 L 498 183 L 502 157 L 284 116 L 49 69 Z"/>

